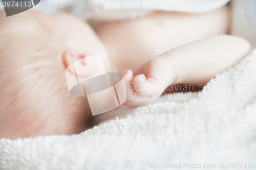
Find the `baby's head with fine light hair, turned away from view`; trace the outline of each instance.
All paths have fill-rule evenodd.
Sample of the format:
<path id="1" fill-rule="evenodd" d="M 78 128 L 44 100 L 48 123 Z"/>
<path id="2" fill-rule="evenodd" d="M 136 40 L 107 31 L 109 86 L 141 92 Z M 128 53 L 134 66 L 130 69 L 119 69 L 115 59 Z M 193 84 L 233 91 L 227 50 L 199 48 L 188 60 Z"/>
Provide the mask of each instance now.
<path id="1" fill-rule="evenodd" d="M 107 58 L 93 30 L 68 14 L 29 11 L 1 17 L 0 37 L 0 138 L 84 130 L 90 107 L 69 94 L 65 69 L 95 53 Z"/>

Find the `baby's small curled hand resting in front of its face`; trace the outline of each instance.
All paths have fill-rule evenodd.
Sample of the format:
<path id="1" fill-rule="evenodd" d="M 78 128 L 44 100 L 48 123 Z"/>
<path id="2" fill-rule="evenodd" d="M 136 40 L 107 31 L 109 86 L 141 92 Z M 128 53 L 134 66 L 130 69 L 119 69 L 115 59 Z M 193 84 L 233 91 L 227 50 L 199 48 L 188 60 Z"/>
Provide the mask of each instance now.
<path id="1" fill-rule="evenodd" d="M 172 64 L 161 55 L 146 62 L 135 72 L 126 70 L 123 77 L 127 100 L 121 108 L 125 109 L 154 103 L 164 89 L 173 83 L 175 74 Z"/>

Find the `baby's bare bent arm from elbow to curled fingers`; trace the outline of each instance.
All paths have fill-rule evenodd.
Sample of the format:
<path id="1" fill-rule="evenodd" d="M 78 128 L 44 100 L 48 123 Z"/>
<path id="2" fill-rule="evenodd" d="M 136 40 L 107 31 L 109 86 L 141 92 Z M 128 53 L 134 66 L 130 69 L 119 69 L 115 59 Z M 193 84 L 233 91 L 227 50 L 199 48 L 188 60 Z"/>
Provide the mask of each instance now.
<path id="1" fill-rule="evenodd" d="M 167 51 L 134 72 L 126 70 L 124 80 L 128 99 L 123 108 L 151 104 L 171 84 L 203 87 L 217 73 L 237 64 L 250 48 L 245 39 L 219 35 Z M 143 96 L 138 98 L 139 95 Z"/>

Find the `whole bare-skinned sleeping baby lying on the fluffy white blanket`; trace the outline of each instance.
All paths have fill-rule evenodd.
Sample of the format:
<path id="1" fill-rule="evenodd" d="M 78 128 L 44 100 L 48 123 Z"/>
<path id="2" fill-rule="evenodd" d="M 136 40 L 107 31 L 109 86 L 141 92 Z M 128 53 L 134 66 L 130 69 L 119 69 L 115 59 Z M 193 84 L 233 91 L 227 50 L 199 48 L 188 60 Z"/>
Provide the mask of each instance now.
<path id="1" fill-rule="evenodd" d="M 154 103 L 151 96 L 172 84 L 203 87 L 250 51 L 245 39 L 225 35 L 227 6 L 200 14 L 156 11 L 104 21 L 95 31 L 69 14 L 19 15 L 0 18 L 1 138 L 84 131 L 92 121 L 88 100 L 69 94 L 65 70 L 93 54 L 100 53 L 106 72 L 123 73 L 129 95 L 117 109 L 129 110 Z M 78 66 L 78 77 L 93 74 L 90 63 Z"/>

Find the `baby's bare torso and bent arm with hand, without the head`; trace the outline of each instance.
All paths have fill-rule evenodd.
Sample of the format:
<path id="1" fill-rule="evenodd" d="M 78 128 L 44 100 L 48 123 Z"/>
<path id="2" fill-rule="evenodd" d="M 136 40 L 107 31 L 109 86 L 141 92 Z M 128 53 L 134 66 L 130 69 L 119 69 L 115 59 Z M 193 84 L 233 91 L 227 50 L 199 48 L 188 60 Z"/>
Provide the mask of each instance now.
<path id="1" fill-rule="evenodd" d="M 203 87 L 237 64 L 250 44 L 224 35 L 229 20 L 225 6 L 202 14 L 156 12 L 132 21 L 102 23 L 96 32 L 113 66 L 124 72 L 128 98 L 120 108 L 152 104 L 172 84 Z"/>

